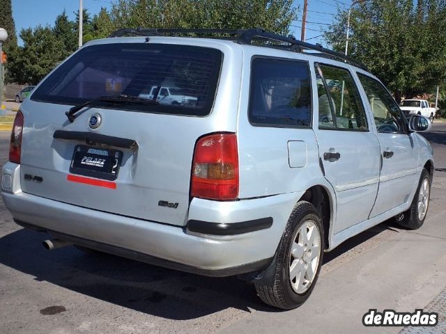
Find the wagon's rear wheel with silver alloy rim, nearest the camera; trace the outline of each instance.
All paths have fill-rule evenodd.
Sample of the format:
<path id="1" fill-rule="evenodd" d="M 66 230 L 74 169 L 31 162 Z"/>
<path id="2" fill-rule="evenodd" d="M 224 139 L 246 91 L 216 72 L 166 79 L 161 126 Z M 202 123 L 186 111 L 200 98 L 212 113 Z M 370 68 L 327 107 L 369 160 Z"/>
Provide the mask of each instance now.
<path id="1" fill-rule="evenodd" d="M 316 285 L 323 249 L 323 225 L 316 208 L 298 202 L 276 250 L 273 284 L 255 284 L 260 299 L 285 310 L 302 305 Z"/>

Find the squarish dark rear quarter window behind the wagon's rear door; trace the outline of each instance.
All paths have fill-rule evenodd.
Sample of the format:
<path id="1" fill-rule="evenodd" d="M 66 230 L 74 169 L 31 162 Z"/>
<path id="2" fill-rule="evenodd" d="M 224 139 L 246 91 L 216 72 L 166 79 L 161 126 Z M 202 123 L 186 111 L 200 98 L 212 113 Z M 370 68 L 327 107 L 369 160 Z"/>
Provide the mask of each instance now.
<path id="1" fill-rule="evenodd" d="M 310 127 L 311 111 L 308 63 L 254 58 L 249 122 L 259 126 Z"/>

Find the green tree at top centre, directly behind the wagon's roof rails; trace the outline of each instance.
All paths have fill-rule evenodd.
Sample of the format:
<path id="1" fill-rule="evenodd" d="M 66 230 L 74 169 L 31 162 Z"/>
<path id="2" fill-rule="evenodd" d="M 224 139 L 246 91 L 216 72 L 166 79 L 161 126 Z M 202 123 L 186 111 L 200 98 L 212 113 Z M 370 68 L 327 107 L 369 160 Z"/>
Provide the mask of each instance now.
<path id="1" fill-rule="evenodd" d="M 289 33 L 296 18 L 293 0 L 117 0 L 110 16 L 120 28 L 263 27 Z"/>

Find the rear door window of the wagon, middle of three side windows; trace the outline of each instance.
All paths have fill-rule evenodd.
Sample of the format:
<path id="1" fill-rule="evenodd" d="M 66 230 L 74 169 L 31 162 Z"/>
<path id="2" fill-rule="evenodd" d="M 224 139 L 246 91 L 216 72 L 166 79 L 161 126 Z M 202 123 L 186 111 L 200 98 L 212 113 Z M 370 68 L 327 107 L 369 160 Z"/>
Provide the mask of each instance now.
<path id="1" fill-rule="evenodd" d="M 364 106 L 348 70 L 316 65 L 319 128 L 365 131 L 369 127 Z"/>

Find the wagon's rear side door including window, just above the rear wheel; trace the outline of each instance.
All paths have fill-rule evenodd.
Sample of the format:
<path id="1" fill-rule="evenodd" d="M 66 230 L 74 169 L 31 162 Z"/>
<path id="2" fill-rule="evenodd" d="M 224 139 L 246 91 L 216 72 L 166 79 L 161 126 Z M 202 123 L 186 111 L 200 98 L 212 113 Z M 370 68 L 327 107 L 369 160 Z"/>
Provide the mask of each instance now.
<path id="1" fill-rule="evenodd" d="M 337 198 L 333 232 L 367 220 L 378 191 L 380 147 L 346 67 L 315 64 L 321 166 Z"/>

